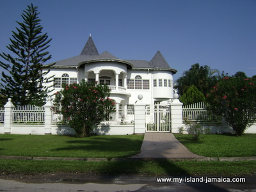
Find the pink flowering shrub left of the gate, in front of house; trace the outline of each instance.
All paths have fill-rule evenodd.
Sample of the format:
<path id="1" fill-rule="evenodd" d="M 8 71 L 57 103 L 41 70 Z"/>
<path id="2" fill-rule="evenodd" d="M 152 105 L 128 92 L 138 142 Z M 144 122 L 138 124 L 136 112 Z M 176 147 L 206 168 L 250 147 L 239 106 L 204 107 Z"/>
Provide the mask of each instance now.
<path id="1" fill-rule="evenodd" d="M 93 128 L 109 120 L 109 113 L 115 111 L 115 100 L 109 94 L 108 86 L 97 82 L 82 80 L 79 84 L 65 85 L 54 93 L 54 111 L 63 115 L 77 136 L 90 136 Z"/>

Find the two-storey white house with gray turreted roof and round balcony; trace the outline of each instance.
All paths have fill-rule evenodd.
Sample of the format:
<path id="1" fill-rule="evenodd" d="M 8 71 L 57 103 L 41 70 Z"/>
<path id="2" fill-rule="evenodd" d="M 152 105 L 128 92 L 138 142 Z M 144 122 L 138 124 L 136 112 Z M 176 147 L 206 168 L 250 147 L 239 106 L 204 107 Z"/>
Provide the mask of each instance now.
<path id="1" fill-rule="evenodd" d="M 149 106 L 173 99 L 173 74 L 177 72 L 159 51 L 150 61 L 122 60 L 107 51 L 99 54 L 92 36 L 80 55 L 57 61 L 50 70 L 47 76 L 55 75 L 57 83 L 54 92 L 63 83 L 79 83 L 81 79 L 98 81 L 111 88 L 110 97 L 116 100 L 116 109 L 128 111 L 133 109 L 139 94 Z"/>

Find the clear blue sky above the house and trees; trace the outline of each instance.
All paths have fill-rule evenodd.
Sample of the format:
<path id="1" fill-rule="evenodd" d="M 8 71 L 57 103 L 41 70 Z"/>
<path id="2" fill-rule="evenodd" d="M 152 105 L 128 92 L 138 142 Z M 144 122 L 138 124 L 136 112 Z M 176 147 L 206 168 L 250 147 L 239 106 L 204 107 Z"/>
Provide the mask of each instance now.
<path id="1" fill-rule="evenodd" d="M 256 75 L 255 0 L 0 0 L 0 52 L 31 3 L 52 38 L 49 62 L 79 55 L 91 33 L 100 53 L 119 59 L 150 61 L 161 51 L 174 79 L 195 63 Z"/>

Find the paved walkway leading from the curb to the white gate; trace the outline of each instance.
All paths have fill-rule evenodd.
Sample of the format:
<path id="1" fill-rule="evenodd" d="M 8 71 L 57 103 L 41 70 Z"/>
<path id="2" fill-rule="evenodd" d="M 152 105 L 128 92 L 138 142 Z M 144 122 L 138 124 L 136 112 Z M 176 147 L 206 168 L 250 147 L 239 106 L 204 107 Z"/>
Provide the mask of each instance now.
<path id="1" fill-rule="evenodd" d="M 167 158 L 193 159 L 202 158 L 193 154 L 170 132 L 146 132 L 140 154 L 129 158 Z"/>

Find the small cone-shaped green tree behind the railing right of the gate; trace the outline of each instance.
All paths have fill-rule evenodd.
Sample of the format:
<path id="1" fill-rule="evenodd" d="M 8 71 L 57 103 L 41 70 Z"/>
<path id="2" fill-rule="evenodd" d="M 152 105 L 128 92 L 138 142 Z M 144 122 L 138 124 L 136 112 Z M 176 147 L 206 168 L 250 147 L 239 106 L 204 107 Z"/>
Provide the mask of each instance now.
<path id="1" fill-rule="evenodd" d="M 205 101 L 204 94 L 199 92 L 195 85 L 190 86 L 186 93 L 180 97 L 180 102 L 185 106 L 202 101 Z"/>

